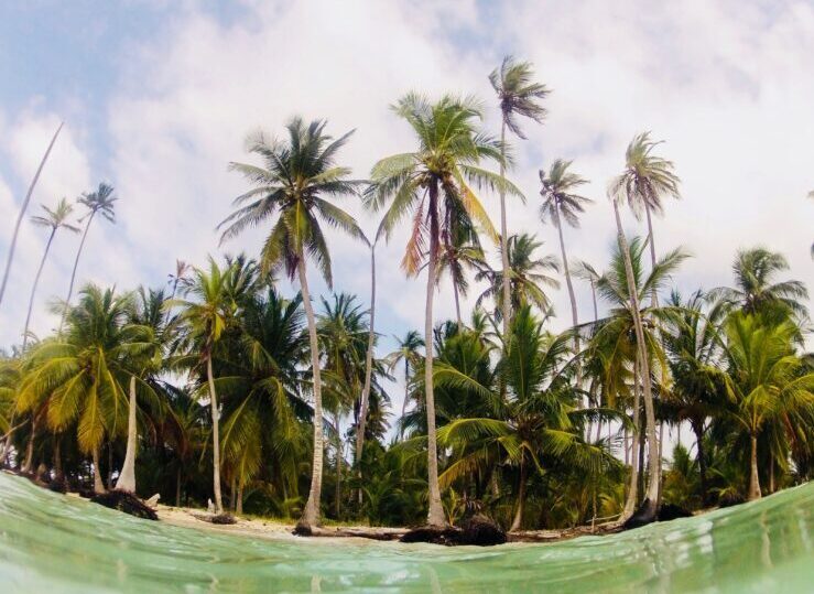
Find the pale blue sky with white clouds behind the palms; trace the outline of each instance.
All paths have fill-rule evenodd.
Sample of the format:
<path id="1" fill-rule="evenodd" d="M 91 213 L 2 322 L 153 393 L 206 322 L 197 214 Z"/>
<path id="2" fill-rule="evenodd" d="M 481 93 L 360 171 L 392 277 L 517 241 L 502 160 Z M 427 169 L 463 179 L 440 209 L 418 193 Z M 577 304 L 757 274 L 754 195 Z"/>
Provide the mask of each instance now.
<path id="1" fill-rule="evenodd" d="M 656 250 L 693 258 L 674 277 L 684 293 L 731 283 L 739 248 L 764 246 L 789 259 L 788 278 L 814 288 L 814 2 L 783 0 L 215 1 L 31 0 L 0 3 L 0 258 L 19 205 L 54 130 L 65 128 L 43 171 L 29 215 L 106 181 L 117 222 L 89 231 L 78 281 L 165 285 L 175 260 L 259 251 L 263 229 L 218 245 L 216 225 L 246 190 L 230 161 L 251 161 L 245 138 L 280 136 L 295 115 L 326 118 L 355 177 L 380 158 L 410 151 L 405 122 L 389 109 L 417 90 L 474 94 L 484 130 L 499 133 L 487 76 L 512 54 L 533 63 L 552 89 L 543 125 L 523 122 L 511 139 L 511 233 L 536 234 L 557 253 L 555 229 L 539 217 L 538 171 L 557 159 L 590 180 L 594 198 L 578 229 L 565 229 L 572 261 L 604 269 L 615 241 L 608 181 L 623 168 L 630 139 L 650 130 L 675 163 L 680 201 L 654 220 Z M 482 194 L 499 223 L 497 196 Z M 373 234 L 376 215 L 343 201 Z M 80 213 L 80 210 L 77 210 Z M 622 213 L 630 235 L 644 226 Z M 20 342 L 46 231 L 22 227 L 9 290 L 0 304 L 0 348 Z M 393 335 L 423 327 L 425 281 L 399 268 L 406 233 L 377 251 L 379 356 Z M 369 299 L 368 252 L 329 234 L 336 291 Z M 32 328 L 58 322 L 47 304 L 65 296 L 78 237 L 58 235 L 39 290 Z M 490 259 L 498 262 L 490 247 Z M 316 276 L 312 291 L 327 294 Z M 290 288 L 285 288 L 290 291 Z M 589 288 L 577 282 L 582 320 Z M 465 300 L 468 310 L 478 288 Z M 553 330 L 569 324 L 565 288 L 552 293 Z M 812 303 L 808 303 L 811 307 Z M 601 307 L 601 305 L 600 305 Z M 601 313 L 601 311 L 600 311 Z M 452 289 L 436 298 L 454 316 Z M 394 389 L 393 410 L 400 410 Z"/>

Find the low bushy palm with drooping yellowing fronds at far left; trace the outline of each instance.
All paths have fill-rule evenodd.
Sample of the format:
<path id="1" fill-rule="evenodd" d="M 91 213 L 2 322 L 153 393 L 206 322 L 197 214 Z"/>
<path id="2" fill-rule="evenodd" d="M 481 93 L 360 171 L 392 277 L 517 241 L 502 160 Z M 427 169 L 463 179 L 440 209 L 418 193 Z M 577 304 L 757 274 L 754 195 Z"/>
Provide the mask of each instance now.
<path id="1" fill-rule="evenodd" d="M 131 296 L 88 284 L 67 316 L 64 342 L 46 341 L 32 353 L 19 395 L 20 411 L 47 406 L 53 430 L 76 423 L 79 450 L 94 461 L 94 489 L 105 490 L 99 449 L 126 426 L 128 364 L 150 342 L 149 328 L 128 324 Z"/>

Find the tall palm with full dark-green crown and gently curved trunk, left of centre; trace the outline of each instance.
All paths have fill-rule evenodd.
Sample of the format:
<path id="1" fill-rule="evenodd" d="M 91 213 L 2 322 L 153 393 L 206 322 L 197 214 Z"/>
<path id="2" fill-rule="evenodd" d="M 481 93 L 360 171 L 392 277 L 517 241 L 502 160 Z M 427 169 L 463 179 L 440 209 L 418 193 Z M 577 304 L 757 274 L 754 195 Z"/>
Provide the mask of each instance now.
<path id="1" fill-rule="evenodd" d="M 333 285 L 330 252 L 321 222 L 363 240 L 354 217 L 329 198 L 356 194 L 360 182 L 349 180 L 350 170 L 336 164 L 336 156 L 352 132 L 334 140 L 325 133 L 326 121 L 305 125 L 294 118 L 286 125 L 287 140 L 269 140 L 262 134 L 249 139 L 249 151 L 262 160 L 262 165 L 231 163 L 253 186 L 238 196 L 239 206 L 218 228 L 225 228 L 221 241 L 236 237 L 243 229 L 274 218 L 260 255 L 264 272 L 283 270 L 290 279 L 296 276 L 303 294 L 308 322 L 312 372 L 314 379 L 314 460 L 311 490 L 299 522 L 302 531 L 319 523 L 319 499 L 323 474 L 323 403 L 319 377 L 319 345 L 316 318 L 311 303 L 306 274 L 310 258 Z M 248 203 L 248 204 L 247 204 Z"/>

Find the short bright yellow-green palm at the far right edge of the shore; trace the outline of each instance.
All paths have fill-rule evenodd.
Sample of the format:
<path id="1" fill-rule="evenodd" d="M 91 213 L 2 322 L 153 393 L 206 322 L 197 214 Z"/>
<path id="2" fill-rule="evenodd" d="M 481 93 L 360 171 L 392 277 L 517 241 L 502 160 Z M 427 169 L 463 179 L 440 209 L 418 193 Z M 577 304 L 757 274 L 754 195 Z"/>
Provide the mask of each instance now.
<path id="1" fill-rule="evenodd" d="M 758 438 L 774 419 L 795 413 L 811 415 L 814 371 L 794 354 L 797 328 L 790 321 L 772 323 L 759 315 L 735 312 L 725 323 L 726 392 L 735 404 L 732 417 L 749 434 L 749 500 L 759 499 Z M 810 418 L 810 417 L 808 417 Z M 805 421 L 803 421 L 805 423 Z"/>

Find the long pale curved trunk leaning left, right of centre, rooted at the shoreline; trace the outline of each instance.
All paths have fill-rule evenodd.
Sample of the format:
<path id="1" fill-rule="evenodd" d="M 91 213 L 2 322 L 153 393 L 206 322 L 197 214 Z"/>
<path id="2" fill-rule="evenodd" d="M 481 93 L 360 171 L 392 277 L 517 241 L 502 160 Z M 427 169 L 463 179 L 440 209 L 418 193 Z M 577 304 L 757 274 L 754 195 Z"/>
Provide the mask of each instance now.
<path id="1" fill-rule="evenodd" d="M 639 295 L 637 293 L 636 280 L 633 277 L 633 266 L 630 261 L 630 250 L 628 240 L 625 237 L 621 218 L 619 217 L 619 205 L 616 199 L 614 203 L 614 215 L 616 217 L 616 227 L 619 238 L 619 248 L 625 260 L 625 276 L 628 282 L 628 292 L 630 293 L 630 309 L 633 316 L 633 327 L 636 330 L 636 342 L 639 349 L 642 392 L 644 399 L 644 419 L 645 431 L 648 436 L 648 455 L 651 460 L 651 473 L 648 480 L 648 489 L 645 500 L 638 516 L 642 522 L 653 521 L 659 500 L 659 486 L 661 484 L 661 464 L 659 463 L 659 450 L 655 439 L 655 411 L 653 410 L 653 390 L 650 378 L 650 364 L 648 361 L 647 344 L 644 343 L 644 330 L 642 328 L 641 314 L 639 307 Z"/>

